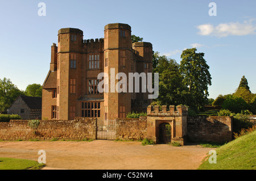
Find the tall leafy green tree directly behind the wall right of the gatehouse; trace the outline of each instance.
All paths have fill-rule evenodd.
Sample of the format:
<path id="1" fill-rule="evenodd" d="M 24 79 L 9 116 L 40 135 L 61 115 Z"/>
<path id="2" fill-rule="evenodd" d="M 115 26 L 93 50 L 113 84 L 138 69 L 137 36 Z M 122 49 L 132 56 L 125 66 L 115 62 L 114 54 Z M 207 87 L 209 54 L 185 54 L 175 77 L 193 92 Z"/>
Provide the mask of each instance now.
<path id="1" fill-rule="evenodd" d="M 183 50 L 180 61 L 180 73 L 183 83 L 188 87 L 195 106 L 203 109 L 207 103 L 208 86 L 212 85 L 209 66 L 204 59 L 204 53 L 196 53 L 196 48 Z"/>

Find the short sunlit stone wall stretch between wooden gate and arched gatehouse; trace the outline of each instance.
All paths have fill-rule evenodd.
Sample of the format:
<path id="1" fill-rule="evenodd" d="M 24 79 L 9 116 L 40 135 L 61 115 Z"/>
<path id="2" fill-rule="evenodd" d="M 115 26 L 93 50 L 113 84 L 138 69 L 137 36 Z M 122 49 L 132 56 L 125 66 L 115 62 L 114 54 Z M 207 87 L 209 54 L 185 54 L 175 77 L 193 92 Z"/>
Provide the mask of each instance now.
<path id="1" fill-rule="evenodd" d="M 115 137 L 120 140 L 143 140 L 147 136 L 147 116 L 116 119 Z"/>

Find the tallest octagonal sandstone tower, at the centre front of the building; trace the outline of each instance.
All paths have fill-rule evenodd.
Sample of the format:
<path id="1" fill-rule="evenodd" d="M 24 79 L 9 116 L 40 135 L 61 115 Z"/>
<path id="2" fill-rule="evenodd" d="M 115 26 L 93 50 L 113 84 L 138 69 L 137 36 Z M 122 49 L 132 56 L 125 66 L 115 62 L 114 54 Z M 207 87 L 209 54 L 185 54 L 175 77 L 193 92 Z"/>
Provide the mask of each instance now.
<path id="1" fill-rule="evenodd" d="M 117 73 L 128 75 L 132 72 L 131 27 L 121 23 L 108 24 L 105 26 L 104 32 L 104 72 L 109 75 L 108 92 L 104 93 L 104 107 L 108 113 L 106 114 L 108 115 L 107 119 L 111 120 L 116 117 L 124 117 L 131 111 L 131 93 L 118 93 L 115 90 L 115 85 L 120 81 L 115 79 L 115 75 Z M 111 79 L 115 79 L 115 81 L 113 82 Z M 127 86 L 129 85 L 127 84 Z"/>

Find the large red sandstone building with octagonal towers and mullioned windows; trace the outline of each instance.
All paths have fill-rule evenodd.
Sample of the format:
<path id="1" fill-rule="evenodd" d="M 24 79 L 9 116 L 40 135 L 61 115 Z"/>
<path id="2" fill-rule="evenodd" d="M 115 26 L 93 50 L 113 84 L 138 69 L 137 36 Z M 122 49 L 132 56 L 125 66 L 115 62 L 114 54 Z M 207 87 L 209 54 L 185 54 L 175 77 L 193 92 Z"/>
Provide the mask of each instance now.
<path id="1" fill-rule="evenodd" d="M 104 39 L 95 40 L 84 40 L 83 32 L 76 28 L 60 29 L 43 83 L 42 119 L 114 120 L 131 111 L 146 112 L 151 103 L 147 92 L 112 92 L 110 80 L 104 82 L 108 91 L 98 92 L 98 74 L 104 72 L 110 77 L 113 68 L 115 74 L 152 72 L 152 44 L 132 43 L 128 24 L 108 24 Z M 115 85 L 118 81 L 115 79 Z"/>

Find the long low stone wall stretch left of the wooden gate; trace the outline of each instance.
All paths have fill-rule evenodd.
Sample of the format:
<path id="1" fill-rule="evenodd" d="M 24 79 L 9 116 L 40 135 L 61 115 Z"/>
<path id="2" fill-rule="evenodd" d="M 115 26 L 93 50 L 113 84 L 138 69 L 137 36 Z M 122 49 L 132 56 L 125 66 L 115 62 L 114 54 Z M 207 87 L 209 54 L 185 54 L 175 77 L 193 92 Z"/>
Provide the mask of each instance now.
<path id="1" fill-rule="evenodd" d="M 11 120 L 9 123 L 0 122 L 0 140 L 83 140 L 96 139 L 96 118 L 77 117 L 73 121 L 40 120 L 39 127 L 28 127 L 28 120 Z"/>

